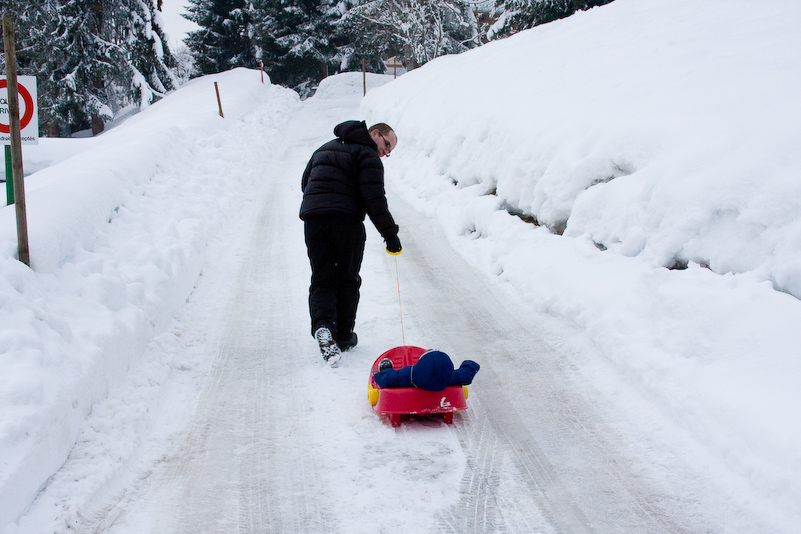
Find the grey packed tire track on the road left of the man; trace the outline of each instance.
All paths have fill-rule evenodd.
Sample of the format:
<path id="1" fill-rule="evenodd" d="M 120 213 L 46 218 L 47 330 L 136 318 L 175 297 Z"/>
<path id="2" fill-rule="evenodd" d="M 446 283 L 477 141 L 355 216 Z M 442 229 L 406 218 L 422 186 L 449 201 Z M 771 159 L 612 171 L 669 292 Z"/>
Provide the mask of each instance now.
<path id="1" fill-rule="evenodd" d="M 299 386 L 305 383 L 304 369 L 297 365 L 294 353 L 297 340 L 307 335 L 307 319 L 305 310 L 298 309 L 303 302 L 275 283 L 292 279 L 290 271 L 297 263 L 282 246 L 287 221 L 297 217 L 295 203 L 285 201 L 287 181 L 280 179 L 287 171 L 283 161 L 266 172 L 272 175 L 270 185 L 239 275 L 216 381 L 205 395 L 209 407 L 199 410 L 198 419 L 206 421 L 222 446 L 204 445 L 202 451 L 190 455 L 197 464 L 197 454 L 217 451 L 200 463 L 213 474 L 205 481 L 190 480 L 191 494 L 181 502 L 187 512 L 182 520 L 186 532 L 214 524 L 217 516 L 231 510 L 236 517 L 226 518 L 227 525 L 217 521 L 222 530 L 213 531 L 232 525 L 239 532 L 335 530 L 324 506 L 326 499 L 321 498 L 327 489 L 320 482 L 318 462 L 298 446 L 312 441 L 309 433 L 314 429 L 302 418 L 287 415 L 297 412 L 302 401 L 304 390 Z M 294 178 L 297 173 L 289 174 Z M 226 474 L 229 478 L 236 474 L 236 481 L 229 490 L 232 499 L 221 509 L 220 479 Z M 207 501 L 193 498 L 198 485 L 211 489 Z"/>

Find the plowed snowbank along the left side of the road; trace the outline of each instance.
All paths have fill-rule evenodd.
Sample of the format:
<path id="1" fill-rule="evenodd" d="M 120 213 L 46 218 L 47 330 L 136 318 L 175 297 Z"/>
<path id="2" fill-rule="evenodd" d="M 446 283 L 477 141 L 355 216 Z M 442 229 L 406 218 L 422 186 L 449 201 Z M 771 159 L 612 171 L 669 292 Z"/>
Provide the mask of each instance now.
<path id="1" fill-rule="evenodd" d="M 72 157 L 34 156 L 66 159 L 26 178 L 32 269 L 14 259 L 13 206 L 0 210 L 0 526 L 186 300 L 205 243 L 258 178 L 232 175 L 230 162 L 275 142 L 297 102 L 237 69 L 194 80 L 98 138 L 64 140 Z M 259 137 L 243 135 L 254 108 L 274 110 L 274 122 L 246 129 Z"/>

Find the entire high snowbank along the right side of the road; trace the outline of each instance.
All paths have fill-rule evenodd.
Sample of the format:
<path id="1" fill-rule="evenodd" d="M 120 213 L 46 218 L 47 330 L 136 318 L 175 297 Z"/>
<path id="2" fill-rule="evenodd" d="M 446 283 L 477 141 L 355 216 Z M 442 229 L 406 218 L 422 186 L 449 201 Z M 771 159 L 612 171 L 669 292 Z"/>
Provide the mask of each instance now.
<path id="1" fill-rule="evenodd" d="M 388 176 L 410 202 L 533 308 L 587 331 L 605 361 L 584 372 L 643 431 L 788 528 L 799 24 L 790 0 L 616 0 L 439 58 L 362 105 L 398 133 Z"/>

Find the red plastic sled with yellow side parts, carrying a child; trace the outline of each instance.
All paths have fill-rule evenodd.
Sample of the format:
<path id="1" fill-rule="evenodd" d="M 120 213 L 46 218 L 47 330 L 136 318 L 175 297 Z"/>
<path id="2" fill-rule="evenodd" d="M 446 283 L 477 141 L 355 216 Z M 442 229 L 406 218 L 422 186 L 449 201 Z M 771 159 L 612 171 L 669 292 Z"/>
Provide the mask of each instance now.
<path id="1" fill-rule="evenodd" d="M 367 399 L 378 414 L 387 414 L 392 426 L 400 426 L 401 415 L 427 415 L 441 413 L 447 424 L 453 423 L 453 414 L 467 409 L 467 386 L 449 386 L 442 391 L 418 388 L 380 388 L 373 380 L 378 364 L 384 358 L 392 360 L 392 367 L 400 369 L 414 365 L 426 349 L 412 346 L 395 347 L 379 356 L 370 369 Z"/>

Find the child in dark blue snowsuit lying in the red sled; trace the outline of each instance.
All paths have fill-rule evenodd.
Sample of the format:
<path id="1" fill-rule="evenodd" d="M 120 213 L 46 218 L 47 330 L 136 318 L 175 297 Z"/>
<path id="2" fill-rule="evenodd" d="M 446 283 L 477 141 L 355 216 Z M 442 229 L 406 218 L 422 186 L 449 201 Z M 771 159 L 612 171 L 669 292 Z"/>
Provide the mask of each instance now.
<path id="1" fill-rule="evenodd" d="M 448 386 L 466 386 L 481 366 L 473 360 L 465 360 L 458 369 L 453 368 L 450 356 L 439 350 L 424 352 L 417 363 L 400 369 L 392 368 L 392 360 L 384 358 L 373 380 L 380 388 L 417 387 L 427 391 L 442 391 Z"/>

